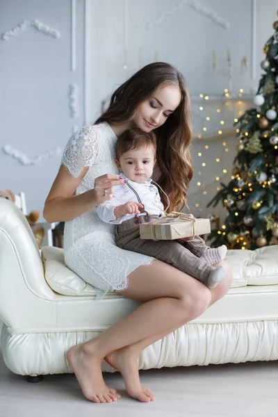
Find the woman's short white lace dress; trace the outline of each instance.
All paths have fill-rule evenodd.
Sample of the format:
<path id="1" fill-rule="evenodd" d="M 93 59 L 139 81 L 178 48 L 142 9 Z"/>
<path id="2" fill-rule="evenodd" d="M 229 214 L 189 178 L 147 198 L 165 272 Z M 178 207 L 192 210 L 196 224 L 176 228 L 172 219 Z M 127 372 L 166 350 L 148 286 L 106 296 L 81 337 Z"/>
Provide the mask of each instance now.
<path id="1" fill-rule="evenodd" d="M 76 195 L 94 188 L 95 179 L 118 173 L 115 165 L 117 137 L 106 122 L 84 125 L 67 142 L 62 157 L 72 177 L 79 177 L 89 167 Z M 99 288 L 97 298 L 108 291 L 122 291 L 128 286 L 128 275 L 153 258 L 122 250 L 115 245 L 115 226 L 102 222 L 94 207 L 74 220 L 65 222 L 65 263 L 84 281 Z"/>

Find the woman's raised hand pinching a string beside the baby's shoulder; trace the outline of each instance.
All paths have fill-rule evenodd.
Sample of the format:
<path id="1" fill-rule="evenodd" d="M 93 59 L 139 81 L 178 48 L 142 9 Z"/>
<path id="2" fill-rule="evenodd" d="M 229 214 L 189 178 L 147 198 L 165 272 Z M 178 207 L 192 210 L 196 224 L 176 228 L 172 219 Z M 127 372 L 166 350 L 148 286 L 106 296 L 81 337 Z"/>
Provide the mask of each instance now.
<path id="1" fill-rule="evenodd" d="M 99 203 L 104 203 L 106 200 L 113 197 L 113 186 L 120 186 L 126 183 L 127 180 L 117 174 L 105 174 L 95 179 L 95 202 L 96 206 Z"/>

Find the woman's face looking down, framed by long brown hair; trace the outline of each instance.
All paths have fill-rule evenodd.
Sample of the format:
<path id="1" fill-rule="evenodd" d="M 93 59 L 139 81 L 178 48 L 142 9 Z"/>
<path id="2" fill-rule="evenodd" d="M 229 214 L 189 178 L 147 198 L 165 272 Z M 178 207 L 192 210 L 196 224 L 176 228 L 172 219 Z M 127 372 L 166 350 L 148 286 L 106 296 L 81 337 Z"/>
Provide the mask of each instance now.
<path id="1" fill-rule="evenodd" d="M 180 102 L 179 86 L 165 85 L 139 104 L 133 122 L 144 132 L 152 131 L 166 122 Z"/>

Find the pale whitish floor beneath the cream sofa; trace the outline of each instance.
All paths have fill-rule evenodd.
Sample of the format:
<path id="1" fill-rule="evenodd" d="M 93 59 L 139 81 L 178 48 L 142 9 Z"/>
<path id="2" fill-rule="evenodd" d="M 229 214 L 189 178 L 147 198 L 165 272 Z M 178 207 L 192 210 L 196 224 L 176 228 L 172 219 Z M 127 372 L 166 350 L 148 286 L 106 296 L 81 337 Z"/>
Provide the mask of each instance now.
<path id="1" fill-rule="evenodd" d="M 163 368 L 141 371 L 140 377 L 154 391 L 154 402 L 129 398 L 115 373 L 104 379 L 122 398 L 94 404 L 83 398 L 74 375 L 47 375 L 29 384 L 10 373 L 0 353 L 0 417 L 278 416 L 277 362 Z"/>

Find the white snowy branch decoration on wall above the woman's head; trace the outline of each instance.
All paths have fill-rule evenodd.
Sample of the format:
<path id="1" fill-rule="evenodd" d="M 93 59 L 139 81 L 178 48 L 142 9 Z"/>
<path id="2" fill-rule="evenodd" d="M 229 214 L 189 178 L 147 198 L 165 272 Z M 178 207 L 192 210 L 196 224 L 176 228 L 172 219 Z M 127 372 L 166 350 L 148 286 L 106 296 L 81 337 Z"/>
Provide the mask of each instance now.
<path id="1" fill-rule="evenodd" d="M 163 24 L 164 20 L 167 16 L 174 16 L 177 13 L 180 13 L 181 10 L 185 6 L 191 6 L 195 8 L 195 10 L 198 13 L 201 13 L 204 16 L 209 17 L 213 20 L 216 24 L 219 24 L 224 29 L 229 29 L 229 22 L 226 19 L 223 19 L 222 17 L 218 16 L 217 13 L 215 13 L 211 8 L 206 8 L 200 1 L 198 0 L 181 0 L 179 3 L 176 4 L 176 6 L 173 6 L 172 8 L 168 8 L 164 13 L 161 13 L 160 16 L 154 21 L 149 24 L 147 24 L 147 29 L 152 29 L 154 26 L 158 26 Z"/>

